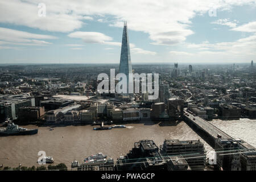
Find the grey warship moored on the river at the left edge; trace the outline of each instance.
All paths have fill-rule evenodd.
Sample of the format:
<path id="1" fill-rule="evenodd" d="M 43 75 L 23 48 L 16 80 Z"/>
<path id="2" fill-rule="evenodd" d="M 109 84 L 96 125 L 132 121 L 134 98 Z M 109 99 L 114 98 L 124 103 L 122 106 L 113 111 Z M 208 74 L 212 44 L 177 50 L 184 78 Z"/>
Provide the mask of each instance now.
<path id="1" fill-rule="evenodd" d="M 7 127 L 0 128 L 0 136 L 9 136 L 9 135 L 34 135 L 38 133 L 38 129 L 26 129 L 19 127 L 14 123 L 8 124 Z"/>

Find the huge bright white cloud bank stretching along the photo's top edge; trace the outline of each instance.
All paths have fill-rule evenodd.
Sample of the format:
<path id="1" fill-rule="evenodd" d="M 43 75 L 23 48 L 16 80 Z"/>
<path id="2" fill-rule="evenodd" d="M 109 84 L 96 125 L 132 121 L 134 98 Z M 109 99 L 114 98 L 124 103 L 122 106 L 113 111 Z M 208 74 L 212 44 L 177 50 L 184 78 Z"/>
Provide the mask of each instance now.
<path id="1" fill-rule="evenodd" d="M 234 5 L 255 6 L 255 1 L 179 0 L 179 1 L 67 1 L 44 0 L 46 17 L 38 16 L 41 0 L 9 0 L 0 2 L 0 22 L 39 28 L 46 31 L 78 30 L 92 16 L 111 17 L 110 26 L 122 27 L 127 20 L 130 30 L 149 35 L 152 44 L 173 45 L 192 35 L 191 19 L 213 8 L 230 10 Z M 234 24 L 228 23 L 228 26 Z"/>

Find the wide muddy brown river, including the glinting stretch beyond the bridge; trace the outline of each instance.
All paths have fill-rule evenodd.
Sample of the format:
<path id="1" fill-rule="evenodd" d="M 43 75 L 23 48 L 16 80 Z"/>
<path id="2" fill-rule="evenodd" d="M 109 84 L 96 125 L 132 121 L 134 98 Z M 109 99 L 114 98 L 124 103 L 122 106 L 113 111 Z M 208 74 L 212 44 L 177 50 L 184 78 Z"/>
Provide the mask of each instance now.
<path id="1" fill-rule="evenodd" d="M 232 137 L 241 138 L 256 146 L 256 121 L 212 121 L 214 125 Z M 0 137 L 0 163 L 4 166 L 38 166 L 39 151 L 53 156 L 55 164 L 65 163 L 71 167 L 72 160 L 83 162 L 89 155 L 102 152 L 114 160 L 126 155 L 134 142 L 151 139 L 160 147 L 164 139 L 200 139 L 207 152 L 213 150 L 185 122 L 162 125 L 151 121 L 126 124 L 125 129 L 94 131 L 93 126 L 40 126 L 38 134 Z M 22 126 L 35 128 L 34 125 Z M 54 128 L 54 130 L 50 130 Z"/>

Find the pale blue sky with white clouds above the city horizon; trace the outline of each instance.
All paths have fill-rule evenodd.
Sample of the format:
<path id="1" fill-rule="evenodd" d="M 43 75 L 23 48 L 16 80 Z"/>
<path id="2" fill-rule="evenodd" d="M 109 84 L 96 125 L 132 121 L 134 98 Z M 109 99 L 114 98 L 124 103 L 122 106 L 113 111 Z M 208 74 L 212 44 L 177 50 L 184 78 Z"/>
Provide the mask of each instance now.
<path id="1" fill-rule="evenodd" d="M 0 64 L 256 60 L 256 0 L 0 0 Z"/>

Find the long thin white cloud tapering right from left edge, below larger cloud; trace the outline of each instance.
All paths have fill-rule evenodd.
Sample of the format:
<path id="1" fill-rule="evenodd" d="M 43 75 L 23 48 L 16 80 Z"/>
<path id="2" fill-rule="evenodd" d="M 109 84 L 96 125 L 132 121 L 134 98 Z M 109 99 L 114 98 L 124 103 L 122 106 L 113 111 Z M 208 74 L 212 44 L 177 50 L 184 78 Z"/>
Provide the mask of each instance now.
<path id="1" fill-rule="evenodd" d="M 32 34 L 30 32 L 0 27 L 0 44 L 13 44 L 25 46 L 47 46 L 51 44 L 38 39 L 57 39 L 55 36 Z"/>

